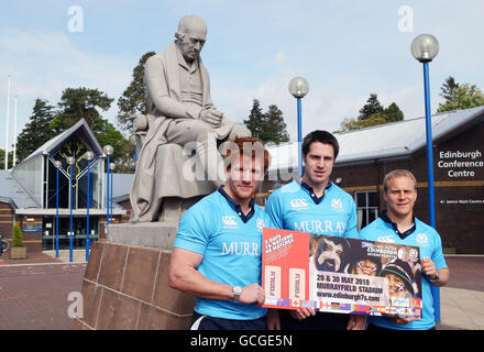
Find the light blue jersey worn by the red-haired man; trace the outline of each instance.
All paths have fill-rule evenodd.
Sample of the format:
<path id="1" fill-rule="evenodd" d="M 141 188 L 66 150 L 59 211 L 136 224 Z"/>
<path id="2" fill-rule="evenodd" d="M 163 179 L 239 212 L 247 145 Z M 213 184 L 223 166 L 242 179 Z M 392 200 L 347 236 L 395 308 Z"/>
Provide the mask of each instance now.
<path id="1" fill-rule="evenodd" d="M 202 198 L 182 217 L 174 246 L 204 255 L 197 267 L 209 279 L 230 286 L 261 285 L 264 210 L 251 201 L 244 217 L 223 187 Z M 244 222 L 244 220 L 246 222 Z M 263 317 L 255 304 L 196 298 L 200 315 L 238 320 Z"/>

